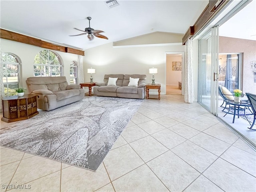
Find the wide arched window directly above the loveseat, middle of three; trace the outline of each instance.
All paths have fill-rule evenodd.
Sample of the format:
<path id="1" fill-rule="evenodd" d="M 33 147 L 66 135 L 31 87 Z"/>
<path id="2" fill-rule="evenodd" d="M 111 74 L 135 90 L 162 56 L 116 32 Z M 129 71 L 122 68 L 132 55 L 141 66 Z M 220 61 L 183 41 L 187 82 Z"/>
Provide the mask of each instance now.
<path id="1" fill-rule="evenodd" d="M 34 59 L 34 76 L 62 76 L 60 56 L 50 50 L 40 51 Z"/>

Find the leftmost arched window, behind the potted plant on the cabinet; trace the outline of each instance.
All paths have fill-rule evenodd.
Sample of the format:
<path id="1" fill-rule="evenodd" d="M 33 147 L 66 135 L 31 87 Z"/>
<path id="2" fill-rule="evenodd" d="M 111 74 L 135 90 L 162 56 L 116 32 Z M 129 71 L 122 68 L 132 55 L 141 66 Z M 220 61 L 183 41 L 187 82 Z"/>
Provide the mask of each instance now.
<path id="1" fill-rule="evenodd" d="M 15 89 L 20 82 L 20 64 L 18 56 L 12 53 L 2 53 L 4 95 L 16 95 Z"/>

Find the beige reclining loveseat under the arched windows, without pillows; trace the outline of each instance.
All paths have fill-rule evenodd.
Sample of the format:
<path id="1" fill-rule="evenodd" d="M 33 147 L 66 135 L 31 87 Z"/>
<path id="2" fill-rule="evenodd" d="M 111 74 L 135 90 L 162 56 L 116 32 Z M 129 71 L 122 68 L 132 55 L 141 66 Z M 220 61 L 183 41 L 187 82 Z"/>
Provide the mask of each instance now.
<path id="1" fill-rule="evenodd" d="M 50 111 L 84 98 L 79 85 L 70 84 L 66 77 L 29 77 L 26 80 L 30 94 L 37 94 L 37 108 Z"/>

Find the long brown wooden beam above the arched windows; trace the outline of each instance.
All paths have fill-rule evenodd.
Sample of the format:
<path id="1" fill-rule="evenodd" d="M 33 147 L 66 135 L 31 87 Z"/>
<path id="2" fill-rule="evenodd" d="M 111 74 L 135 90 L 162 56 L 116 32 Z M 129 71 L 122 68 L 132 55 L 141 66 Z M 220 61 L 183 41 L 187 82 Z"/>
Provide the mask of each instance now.
<path id="1" fill-rule="evenodd" d="M 51 50 L 56 50 L 56 51 L 61 51 L 61 52 L 66 52 L 66 53 L 72 53 L 72 54 L 77 54 L 77 55 L 82 55 L 84 56 L 84 51 L 70 48 L 70 47 L 64 47 L 56 44 L 52 44 L 50 42 L 46 42 L 40 39 L 36 39 L 30 36 L 18 34 L 15 32 L 11 32 L 8 30 L 0 29 L 0 38 L 11 40 L 11 41 L 16 41 L 20 43 L 25 43 L 25 44 L 30 44 L 46 49 L 51 49 Z"/>

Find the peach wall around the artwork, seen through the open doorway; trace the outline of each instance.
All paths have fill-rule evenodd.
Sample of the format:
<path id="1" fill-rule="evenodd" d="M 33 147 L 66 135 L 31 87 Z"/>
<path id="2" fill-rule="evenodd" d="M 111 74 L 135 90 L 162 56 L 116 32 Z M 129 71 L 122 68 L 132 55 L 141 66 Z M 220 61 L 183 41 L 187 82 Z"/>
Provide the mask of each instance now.
<path id="1" fill-rule="evenodd" d="M 177 85 L 178 82 L 182 81 L 182 71 L 173 71 L 172 62 L 180 61 L 182 62 L 182 56 L 177 56 L 177 54 L 167 54 L 166 55 L 166 85 Z"/>

